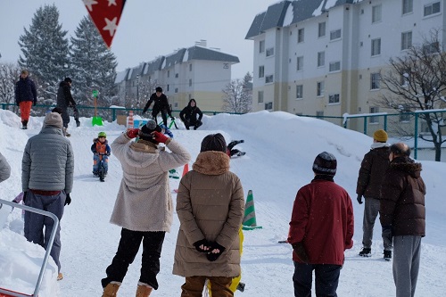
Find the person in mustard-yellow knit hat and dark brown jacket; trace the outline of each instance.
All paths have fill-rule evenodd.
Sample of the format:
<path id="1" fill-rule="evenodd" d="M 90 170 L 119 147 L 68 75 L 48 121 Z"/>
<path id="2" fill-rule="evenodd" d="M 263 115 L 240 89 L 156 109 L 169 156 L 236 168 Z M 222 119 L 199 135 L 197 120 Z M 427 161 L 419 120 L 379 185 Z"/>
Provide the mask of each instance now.
<path id="1" fill-rule="evenodd" d="M 375 227 L 376 217 L 379 212 L 379 191 L 385 170 L 389 167 L 389 147 L 387 144 L 387 133 L 382 130 L 376 130 L 373 134 L 373 144 L 368 153 L 364 155 L 359 169 L 356 194 L 358 202 L 362 204 L 362 197 L 366 199 L 364 207 L 364 219 L 362 221 L 362 251 L 359 256 L 371 257 L 373 228 Z M 387 236 L 383 236 L 384 259 L 392 259 L 392 241 L 388 241 Z"/>

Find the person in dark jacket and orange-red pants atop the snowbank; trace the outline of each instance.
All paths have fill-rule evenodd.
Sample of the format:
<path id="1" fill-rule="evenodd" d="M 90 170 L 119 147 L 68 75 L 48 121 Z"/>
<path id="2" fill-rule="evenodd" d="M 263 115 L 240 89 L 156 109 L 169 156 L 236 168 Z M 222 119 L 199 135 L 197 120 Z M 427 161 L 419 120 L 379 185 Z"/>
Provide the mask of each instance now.
<path id="1" fill-rule="evenodd" d="M 31 106 L 37 104 L 37 90 L 34 81 L 28 76 L 28 70 L 21 70 L 21 78 L 15 83 L 15 103 L 21 108 L 21 125 L 28 128 Z"/>

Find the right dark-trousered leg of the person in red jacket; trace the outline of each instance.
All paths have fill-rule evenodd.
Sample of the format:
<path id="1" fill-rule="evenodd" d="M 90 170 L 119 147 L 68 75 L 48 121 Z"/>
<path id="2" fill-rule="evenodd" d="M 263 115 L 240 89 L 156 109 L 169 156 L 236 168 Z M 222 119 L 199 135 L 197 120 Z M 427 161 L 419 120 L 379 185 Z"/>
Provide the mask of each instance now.
<path id="1" fill-rule="evenodd" d="M 315 265 L 315 291 L 318 297 L 335 297 L 339 285 L 341 265 Z"/>

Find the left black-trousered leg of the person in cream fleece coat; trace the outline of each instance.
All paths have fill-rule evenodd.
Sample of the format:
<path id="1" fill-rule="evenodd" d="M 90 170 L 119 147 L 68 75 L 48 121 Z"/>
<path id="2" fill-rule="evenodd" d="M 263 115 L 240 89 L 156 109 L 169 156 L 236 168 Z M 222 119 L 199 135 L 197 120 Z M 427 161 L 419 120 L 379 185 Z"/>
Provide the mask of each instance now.
<path id="1" fill-rule="evenodd" d="M 111 282 L 122 283 L 124 276 L 127 274 L 128 266 L 135 260 L 142 240 L 143 232 L 122 228 L 118 252 L 111 261 L 111 265 L 105 270 L 107 277 L 101 280 L 103 288 Z"/>

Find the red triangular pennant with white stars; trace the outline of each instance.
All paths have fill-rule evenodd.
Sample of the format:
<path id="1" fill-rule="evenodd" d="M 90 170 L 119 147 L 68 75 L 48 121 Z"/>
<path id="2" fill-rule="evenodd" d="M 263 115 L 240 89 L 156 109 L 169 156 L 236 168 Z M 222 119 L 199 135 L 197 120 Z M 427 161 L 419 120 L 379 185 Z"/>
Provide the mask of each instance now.
<path id="1" fill-rule="evenodd" d="M 103 42 L 110 48 L 111 41 L 120 23 L 120 15 L 126 0 L 82 0 L 90 17 L 103 37 Z"/>

